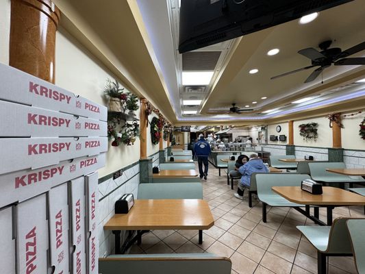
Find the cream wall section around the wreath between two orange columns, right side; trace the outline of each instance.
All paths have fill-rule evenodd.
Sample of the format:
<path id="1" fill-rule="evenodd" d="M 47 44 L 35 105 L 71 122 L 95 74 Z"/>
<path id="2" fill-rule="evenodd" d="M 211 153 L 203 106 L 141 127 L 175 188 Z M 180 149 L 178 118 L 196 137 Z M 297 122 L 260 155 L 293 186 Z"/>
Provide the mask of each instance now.
<path id="1" fill-rule="evenodd" d="M 303 140 L 299 135 L 299 125 L 303 123 L 318 123 L 318 138 L 316 140 Z M 304 147 L 332 147 L 332 129 L 326 117 L 294 121 L 294 145 Z M 358 148 L 360 149 L 360 148 Z"/>

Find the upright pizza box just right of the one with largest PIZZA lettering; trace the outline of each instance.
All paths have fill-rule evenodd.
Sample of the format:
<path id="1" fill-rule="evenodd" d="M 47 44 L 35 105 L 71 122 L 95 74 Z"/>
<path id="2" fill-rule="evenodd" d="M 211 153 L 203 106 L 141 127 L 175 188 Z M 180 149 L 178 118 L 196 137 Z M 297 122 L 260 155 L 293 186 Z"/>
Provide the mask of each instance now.
<path id="1" fill-rule="evenodd" d="M 69 272 L 68 184 L 64 183 L 48 192 L 49 250 L 54 273 Z"/>

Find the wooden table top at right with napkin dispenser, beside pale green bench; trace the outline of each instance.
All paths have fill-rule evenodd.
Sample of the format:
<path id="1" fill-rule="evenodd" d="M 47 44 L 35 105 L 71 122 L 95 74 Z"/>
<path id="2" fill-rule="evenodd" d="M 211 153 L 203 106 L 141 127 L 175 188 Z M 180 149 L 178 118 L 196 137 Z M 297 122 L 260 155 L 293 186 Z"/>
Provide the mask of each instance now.
<path id="1" fill-rule="evenodd" d="M 312 206 L 363 206 L 365 197 L 362 195 L 323 186 L 322 195 L 312 195 L 310 192 L 301 190 L 300 186 L 273 186 L 273 191 L 292 203 L 301 203 Z"/>

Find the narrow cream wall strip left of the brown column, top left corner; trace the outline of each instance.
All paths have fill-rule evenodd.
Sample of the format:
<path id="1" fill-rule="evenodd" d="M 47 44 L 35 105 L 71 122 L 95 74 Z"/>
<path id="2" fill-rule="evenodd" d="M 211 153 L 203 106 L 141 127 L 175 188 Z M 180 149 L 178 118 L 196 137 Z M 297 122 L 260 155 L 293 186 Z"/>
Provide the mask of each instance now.
<path id="1" fill-rule="evenodd" d="M 10 0 L 0 0 L 0 62 L 9 64 Z"/>

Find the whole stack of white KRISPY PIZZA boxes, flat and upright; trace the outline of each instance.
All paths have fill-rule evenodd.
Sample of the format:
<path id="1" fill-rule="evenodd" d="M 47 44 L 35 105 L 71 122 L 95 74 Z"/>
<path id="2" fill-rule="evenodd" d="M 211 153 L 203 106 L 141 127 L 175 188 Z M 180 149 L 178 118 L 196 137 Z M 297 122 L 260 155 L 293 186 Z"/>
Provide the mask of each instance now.
<path id="1" fill-rule="evenodd" d="M 97 273 L 89 269 L 98 256 L 90 236 L 107 115 L 102 105 L 0 64 L 1 273 Z"/>

